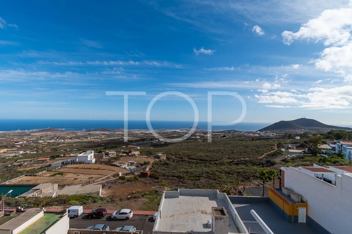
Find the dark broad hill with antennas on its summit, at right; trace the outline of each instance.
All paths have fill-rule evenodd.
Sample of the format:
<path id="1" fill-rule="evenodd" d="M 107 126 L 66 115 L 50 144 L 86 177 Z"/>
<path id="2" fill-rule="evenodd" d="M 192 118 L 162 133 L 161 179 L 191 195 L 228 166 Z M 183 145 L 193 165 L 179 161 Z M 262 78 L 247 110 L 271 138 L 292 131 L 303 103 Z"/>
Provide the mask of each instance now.
<path id="1" fill-rule="evenodd" d="M 310 132 L 328 132 L 332 129 L 338 130 L 352 130 L 348 127 L 338 127 L 333 125 L 327 125 L 321 123 L 315 119 L 300 118 L 289 121 L 279 121 L 269 125 L 268 127 L 262 128 L 260 132 L 281 132 L 281 131 L 310 131 Z"/>

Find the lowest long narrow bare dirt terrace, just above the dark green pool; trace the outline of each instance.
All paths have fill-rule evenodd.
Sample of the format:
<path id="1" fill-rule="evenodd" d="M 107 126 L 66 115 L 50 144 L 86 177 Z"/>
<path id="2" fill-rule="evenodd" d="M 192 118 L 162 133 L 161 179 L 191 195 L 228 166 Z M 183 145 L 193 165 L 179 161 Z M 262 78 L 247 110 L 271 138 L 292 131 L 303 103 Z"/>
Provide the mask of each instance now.
<path id="1" fill-rule="evenodd" d="M 59 185 L 78 185 L 87 181 L 88 179 L 78 179 L 78 178 L 56 178 L 55 176 L 23 176 L 19 179 L 11 181 L 12 184 L 40 184 L 40 183 L 57 183 Z"/>

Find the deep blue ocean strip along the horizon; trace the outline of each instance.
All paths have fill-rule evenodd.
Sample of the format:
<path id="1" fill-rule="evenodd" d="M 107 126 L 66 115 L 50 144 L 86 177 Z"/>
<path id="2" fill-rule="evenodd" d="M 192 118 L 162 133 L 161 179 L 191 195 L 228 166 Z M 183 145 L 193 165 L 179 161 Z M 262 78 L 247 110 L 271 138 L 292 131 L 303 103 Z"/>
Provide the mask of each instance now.
<path id="1" fill-rule="evenodd" d="M 192 121 L 151 121 L 154 129 L 180 129 L 193 126 Z M 271 123 L 241 122 L 231 126 L 213 126 L 213 130 L 256 131 Z M 0 131 L 58 128 L 66 131 L 123 128 L 123 120 L 54 120 L 54 119 L 0 119 Z M 207 129 L 207 122 L 198 122 L 198 128 Z M 128 129 L 148 129 L 145 120 L 128 121 Z"/>

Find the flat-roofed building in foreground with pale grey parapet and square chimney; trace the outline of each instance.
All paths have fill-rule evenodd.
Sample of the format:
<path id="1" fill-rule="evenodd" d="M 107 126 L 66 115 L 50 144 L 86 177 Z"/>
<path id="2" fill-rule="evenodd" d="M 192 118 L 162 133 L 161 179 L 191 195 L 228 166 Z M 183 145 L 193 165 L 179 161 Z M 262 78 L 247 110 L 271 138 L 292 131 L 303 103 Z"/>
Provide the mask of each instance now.
<path id="1" fill-rule="evenodd" d="M 224 207 L 224 208 L 222 208 Z M 230 199 L 218 190 L 165 191 L 153 234 L 248 233 Z"/>

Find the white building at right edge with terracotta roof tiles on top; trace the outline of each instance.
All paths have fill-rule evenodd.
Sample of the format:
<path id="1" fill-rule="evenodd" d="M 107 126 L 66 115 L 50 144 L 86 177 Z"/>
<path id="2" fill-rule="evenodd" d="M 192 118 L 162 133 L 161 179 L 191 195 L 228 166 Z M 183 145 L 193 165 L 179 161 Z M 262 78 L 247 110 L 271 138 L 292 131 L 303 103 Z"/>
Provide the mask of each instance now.
<path id="1" fill-rule="evenodd" d="M 307 223 L 329 233 L 351 233 L 352 167 L 289 167 L 284 187 L 308 203 Z"/>

